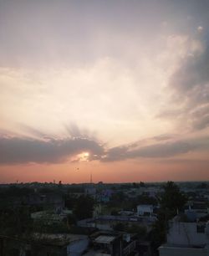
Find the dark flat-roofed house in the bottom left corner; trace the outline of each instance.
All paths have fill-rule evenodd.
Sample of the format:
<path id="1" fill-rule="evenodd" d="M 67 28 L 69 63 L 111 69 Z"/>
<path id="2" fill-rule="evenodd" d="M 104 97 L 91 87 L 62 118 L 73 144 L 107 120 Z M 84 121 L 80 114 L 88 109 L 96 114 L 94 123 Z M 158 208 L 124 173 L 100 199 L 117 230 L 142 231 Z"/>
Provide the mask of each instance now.
<path id="1" fill-rule="evenodd" d="M 89 238 L 75 234 L 34 233 L 30 238 L 0 236 L 0 255 L 80 256 L 89 246 Z"/>

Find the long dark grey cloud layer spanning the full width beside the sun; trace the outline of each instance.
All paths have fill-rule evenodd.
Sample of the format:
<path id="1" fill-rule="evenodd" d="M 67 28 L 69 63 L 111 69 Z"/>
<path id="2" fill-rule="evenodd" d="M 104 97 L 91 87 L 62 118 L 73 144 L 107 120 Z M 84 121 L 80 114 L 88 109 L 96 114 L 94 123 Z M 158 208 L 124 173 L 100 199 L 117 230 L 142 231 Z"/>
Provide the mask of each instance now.
<path id="1" fill-rule="evenodd" d="M 209 150 L 209 137 L 181 141 L 163 140 L 141 146 L 140 142 L 104 149 L 99 142 L 74 138 L 48 141 L 30 140 L 17 137 L 0 138 L 0 164 L 57 163 L 69 160 L 70 156 L 88 151 L 89 160 L 125 161 L 137 158 L 168 158 L 190 151 Z"/>

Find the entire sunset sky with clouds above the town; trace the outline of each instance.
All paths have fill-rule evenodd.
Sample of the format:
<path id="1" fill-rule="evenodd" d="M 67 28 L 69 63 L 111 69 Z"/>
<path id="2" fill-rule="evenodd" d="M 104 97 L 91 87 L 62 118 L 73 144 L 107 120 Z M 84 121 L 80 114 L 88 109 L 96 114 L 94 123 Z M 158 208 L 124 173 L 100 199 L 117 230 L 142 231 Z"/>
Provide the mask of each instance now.
<path id="1" fill-rule="evenodd" d="M 209 180 L 208 0 L 0 0 L 0 182 Z"/>

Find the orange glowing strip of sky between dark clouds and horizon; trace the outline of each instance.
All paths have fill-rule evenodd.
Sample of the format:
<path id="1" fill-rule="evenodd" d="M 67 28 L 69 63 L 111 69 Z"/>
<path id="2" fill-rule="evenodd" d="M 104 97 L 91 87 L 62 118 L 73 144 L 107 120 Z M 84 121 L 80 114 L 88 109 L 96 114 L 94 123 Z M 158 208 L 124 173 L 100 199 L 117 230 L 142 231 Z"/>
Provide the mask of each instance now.
<path id="1" fill-rule="evenodd" d="M 124 182 L 195 182 L 209 181 L 207 163 L 199 162 L 176 164 L 175 166 L 155 163 L 150 166 L 135 162 L 118 162 L 114 165 L 99 162 L 80 161 L 57 165 L 22 165 L 0 167 L 0 183 L 15 182 L 59 182 L 89 183 L 92 173 L 93 182 L 124 183 Z M 119 175 L 120 173 L 120 175 Z"/>

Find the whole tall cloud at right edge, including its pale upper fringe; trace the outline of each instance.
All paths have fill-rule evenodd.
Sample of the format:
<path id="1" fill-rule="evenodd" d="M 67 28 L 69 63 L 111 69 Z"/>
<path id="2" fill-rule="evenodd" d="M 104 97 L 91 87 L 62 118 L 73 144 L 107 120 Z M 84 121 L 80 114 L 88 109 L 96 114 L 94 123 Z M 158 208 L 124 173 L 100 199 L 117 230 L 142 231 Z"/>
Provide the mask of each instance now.
<path id="1" fill-rule="evenodd" d="M 209 40 L 202 33 L 174 36 L 171 43 L 178 55 L 167 80 L 170 102 L 157 118 L 175 120 L 189 131 L 200 131 L 209 126 Z M 176 38 L 182 38 L 181 44 Z M 183 39 L 184 38 L 184 39 Z"/>

